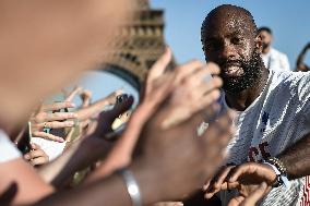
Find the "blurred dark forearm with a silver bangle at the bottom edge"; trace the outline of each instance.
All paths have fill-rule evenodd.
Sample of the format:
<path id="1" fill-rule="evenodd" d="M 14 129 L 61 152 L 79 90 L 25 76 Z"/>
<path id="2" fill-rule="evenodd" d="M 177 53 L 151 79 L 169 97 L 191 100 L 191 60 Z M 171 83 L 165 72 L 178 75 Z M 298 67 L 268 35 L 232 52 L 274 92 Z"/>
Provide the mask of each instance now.
<path id="1" fill-rule="evenodd" d="M 154 203 L 157 199 L 156 183 L 152 180 L 159 180 L 155 172 L 150 172 L 142 169 L 140 166 L 130 168 L 134 174 L 139 187 L 143 205 Z M 100 179 L 87 186 L 80 186 L 75 190 L 63 191 L 61 193 L 55 193 L 49 197 L 34 204 L 33 206 L 55 206 L 55 205 L 114 205 L 114 206 L 130 206 L 132 205 L 131 198 L 128 194 L 126 184 L 120 175 L 112 174 L 107 179 Z"/>

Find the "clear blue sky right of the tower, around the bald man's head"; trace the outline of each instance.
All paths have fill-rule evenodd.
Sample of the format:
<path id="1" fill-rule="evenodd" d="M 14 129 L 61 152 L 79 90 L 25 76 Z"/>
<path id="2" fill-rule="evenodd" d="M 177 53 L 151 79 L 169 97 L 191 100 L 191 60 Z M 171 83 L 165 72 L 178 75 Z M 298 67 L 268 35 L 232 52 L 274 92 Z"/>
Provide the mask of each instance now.
<path id="1" fill-rule="evenodd" d="M 168 45 L 178 62 L 204 60 L 200 27 L 204 16 L 215 7 L 236 4 L 249 10 L 258 26 L 269 26 L 274 33 L 274 47 L 287 53 L 290 66 L 302 47 L 310 41 L 310 1 L 307 0 L 151 0 L 154 9 L 165 10 Z M 307 56 L 310 63 L 310 53 Z"/>

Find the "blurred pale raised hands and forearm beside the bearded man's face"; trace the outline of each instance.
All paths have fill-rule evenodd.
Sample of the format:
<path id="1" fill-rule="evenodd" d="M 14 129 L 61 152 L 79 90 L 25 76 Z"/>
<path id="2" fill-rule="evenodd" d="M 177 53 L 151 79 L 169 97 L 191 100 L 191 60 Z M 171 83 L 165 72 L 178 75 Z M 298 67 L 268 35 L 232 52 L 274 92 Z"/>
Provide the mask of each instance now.
<path id="1" fill-rule="evenodd" d="M 222 81 L 216 76 L 207 82 L 205 78 L 218 74 L 218 66 L 194 60 L 164 73 L 170 59 L 171 51 L 167 49 L 151 69 L 142 102 L 132 113 L 123 135 L 102 167 L 102 174 L 109 174 L 130 163 L 143 125 L 163 101 L 171 106 L 166 111 L 169 114 L 162 122 L 162 126 L 166 129 L 186 121 L 202 108 L 210 113 L 216 111 L 215 101 L 219 97 Z"/>

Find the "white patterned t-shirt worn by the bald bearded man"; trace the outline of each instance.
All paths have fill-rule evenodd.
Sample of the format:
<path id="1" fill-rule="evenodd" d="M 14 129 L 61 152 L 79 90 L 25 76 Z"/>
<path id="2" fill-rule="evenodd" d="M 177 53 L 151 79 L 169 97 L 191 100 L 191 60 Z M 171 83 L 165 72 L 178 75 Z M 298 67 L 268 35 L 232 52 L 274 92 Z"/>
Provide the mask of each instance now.
<path id="1" fill-rule="evenodd" d="M 228 108 L 225 95 L 223 108 Z M 229 109 L 229 108 L 228 108 Z M 240 165 L 274 157 L 310 133 L 310 73 L 270 71 L 264 90 L 234 118 L 236 134 L 227 147 L 227 163 Z M 309 177 L 273 189 L 261 205 L 290 206 L 309 201 Z M 223 205 L 236 191 L 223 191 Z M 310 202 L 309 202 L 310 205 Z"/>

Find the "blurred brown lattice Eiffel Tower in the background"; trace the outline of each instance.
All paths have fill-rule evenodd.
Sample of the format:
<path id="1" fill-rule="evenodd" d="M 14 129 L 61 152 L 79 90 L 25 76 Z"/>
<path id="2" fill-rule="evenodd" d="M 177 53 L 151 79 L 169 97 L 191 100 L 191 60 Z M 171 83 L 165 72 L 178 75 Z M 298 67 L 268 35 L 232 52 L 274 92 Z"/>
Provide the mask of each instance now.
<path id="1" fill-rule="evenodd" d="M 122 40 L 117 43 L 105 70 L 139 90 L 147 70 L 163 54 L 166 44 L 164 11 L 151 9 L 147 0 L 138 0 L 138 3 L 133 20 L 120 31 Z"/>

